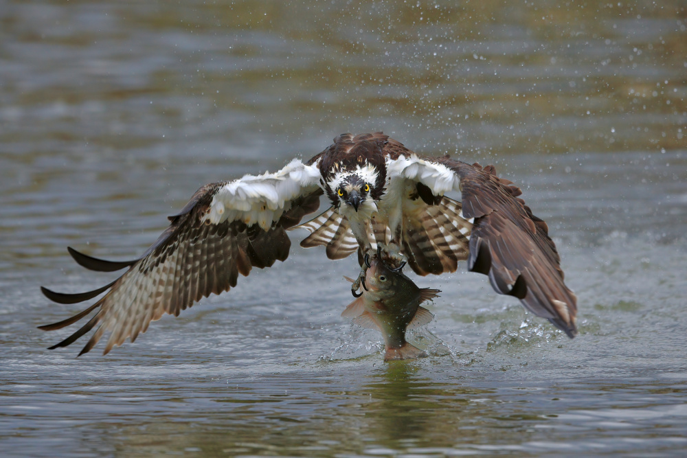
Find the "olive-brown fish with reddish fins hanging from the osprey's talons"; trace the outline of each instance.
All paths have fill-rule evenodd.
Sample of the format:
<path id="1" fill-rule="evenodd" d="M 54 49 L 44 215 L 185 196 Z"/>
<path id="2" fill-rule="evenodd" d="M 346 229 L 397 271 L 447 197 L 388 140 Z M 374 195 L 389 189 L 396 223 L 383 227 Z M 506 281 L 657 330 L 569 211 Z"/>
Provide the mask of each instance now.
<path id="1" fill-rule="evenodd" d="M 392 268 L 378 254 L 366 256 L 365 264 L 368 269 L 361 282 L 361 293 L 354 293 L 357 298 L 348 304 L 341 317 L 351 318 L 363 328 L 379 330 L 384 338 L 385 361 L 426 357 L 427 353 L 405 340 L 405 332 L 434 318 L 420 304 L 438 297 L 441 291 L 418 288 L 401 270 L 405 262 Z"/>

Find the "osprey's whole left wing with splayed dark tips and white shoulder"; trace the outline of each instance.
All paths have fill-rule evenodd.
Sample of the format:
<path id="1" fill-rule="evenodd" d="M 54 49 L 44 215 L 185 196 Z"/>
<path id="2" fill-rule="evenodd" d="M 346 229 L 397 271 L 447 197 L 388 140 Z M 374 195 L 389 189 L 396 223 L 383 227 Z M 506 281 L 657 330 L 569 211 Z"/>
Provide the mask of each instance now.
<path id="1" fill-rule="evenodd" d="M 210 293 L 236 286 L 239 273 L 246 276 L 253 267 L 286 260 L 291 242 L 285 230 L 317 210 L 322 195 L 318 181 L 317 164 L 294 160 L 273 174 L 205 185 L 179 214 L 170 216 L 170 227 L 137 260 L 110 262 L 69 248 L 78 264 L 93 271 L 125 267 L 128 271 L 88 293 L 64 294 L 41 288 L 48 299 L 60 304 L 86 301 L 109 289 L 74 317 L 40 327 L 64 328 L 97 310 L 82 328 L 51 349 L 65 347 L 95 328 L 79 355 L 89 352 L 109 331 L 106 354 L 129 336 L 133 342 L 139 332 L 146 332 L 150 321 L 163 314 L 179 315 Z"/>

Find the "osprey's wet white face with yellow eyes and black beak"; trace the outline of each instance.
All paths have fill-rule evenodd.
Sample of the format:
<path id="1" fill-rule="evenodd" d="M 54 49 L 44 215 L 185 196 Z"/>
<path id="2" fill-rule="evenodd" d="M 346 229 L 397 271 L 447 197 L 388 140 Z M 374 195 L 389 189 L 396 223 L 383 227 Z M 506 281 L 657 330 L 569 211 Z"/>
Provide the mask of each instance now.
<path id="1" fill-rule="evenodd" d="M 353 170 L 340 170 L 331 174 L 326 181 L 332 204 L 337 208 L 348 206 L 354 211 L 358 211 L 366 202 L 379 200 L 383 187 L 384 181 L 379 180 L 379 172 L 370 164 L 357 166 Z"/>

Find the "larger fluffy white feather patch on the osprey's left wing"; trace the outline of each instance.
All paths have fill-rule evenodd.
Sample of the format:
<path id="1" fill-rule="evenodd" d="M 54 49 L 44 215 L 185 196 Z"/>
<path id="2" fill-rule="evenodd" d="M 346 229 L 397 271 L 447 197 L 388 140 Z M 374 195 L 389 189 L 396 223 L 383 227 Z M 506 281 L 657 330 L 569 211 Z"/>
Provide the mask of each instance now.
<path id="1" fill-rule="evenodd" d="M 304 188 L 315 190 L 320 176 L 317 164 L 305 165 L 300 159 L 274 173 L 245 175 L 216 192 L 203 222 L 241 220 L 247 225 L 258 223 L 267 231 L 289 209 L 291 199 L 303 194 Z"/>

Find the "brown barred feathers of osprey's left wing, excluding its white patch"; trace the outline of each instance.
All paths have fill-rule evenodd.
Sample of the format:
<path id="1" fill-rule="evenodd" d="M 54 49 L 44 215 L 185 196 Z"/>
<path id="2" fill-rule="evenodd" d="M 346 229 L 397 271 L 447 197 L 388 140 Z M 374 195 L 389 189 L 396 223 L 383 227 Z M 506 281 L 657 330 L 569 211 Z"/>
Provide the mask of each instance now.
<path id="1" fill-rule="evenodd" d="M 115 271 L 126 266 L 129 269 L 115 282 L 89 293 L 69 295 L 41 288 L 49 299 L 60 304 L 92 299 L 109 289 L 102 299 L 74 317 L 40 327 L 64 328 L 98 310 L 82 328 L 51 349 L 65 347 L 97 326 L 79 355 L 89 352 L 109 331 L 104 349 L 107 354 L 129 336 L 135 341 L 139 332 L 146 332 L 150 321 L 163 314 L 176 316 L 201 298 L 236 286 L 239 273 L 246 276 L 253 267 L 265 268 L 275 260 L 286 260 L 291 246 L 286 229 L 317 210 L 322 195 L 319 188 L 310 189 L 288 201 L 288 209 L 269 230 L 258 224 L 246 225 L 241 220 L 227 219 L 218 224 L 203 221 L 214 194 L 224 184 L 201 187 L 181 213 L 170 216 L 170 227 L 138 260 L 109 262 L 69 249 L 79 264 L 91 270 Z"/>

